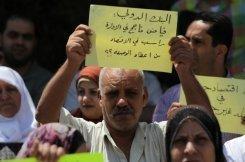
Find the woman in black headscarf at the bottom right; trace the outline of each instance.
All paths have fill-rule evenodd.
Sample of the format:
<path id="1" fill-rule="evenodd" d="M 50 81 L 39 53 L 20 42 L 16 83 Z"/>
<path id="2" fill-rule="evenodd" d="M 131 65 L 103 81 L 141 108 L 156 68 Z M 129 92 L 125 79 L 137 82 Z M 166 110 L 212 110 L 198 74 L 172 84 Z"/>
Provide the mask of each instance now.
<path id="1" fill-rule="evenodd" d="M 225 162 L 219 123 L 200 106 L 180 108 L 167 123 L 168 162 Z"/>

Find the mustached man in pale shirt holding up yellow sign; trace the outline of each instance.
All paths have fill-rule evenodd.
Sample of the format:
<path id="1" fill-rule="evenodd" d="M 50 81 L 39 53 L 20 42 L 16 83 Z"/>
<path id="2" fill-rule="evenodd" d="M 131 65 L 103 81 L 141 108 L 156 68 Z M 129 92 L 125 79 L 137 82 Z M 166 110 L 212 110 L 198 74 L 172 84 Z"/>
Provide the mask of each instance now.
<path id="1" fill-rule="evenodd" d="M 45 87 L 38 103 L 37 120 L 61 122 L 79 129 L 91 152 L 103 153 L 105 161 L 162 162 L 165 156 L 166 122 L 138 122 L 147 103 L 144 75 L 140 70 L 107 68 L 100 72 L 99 97 L 103 121 L 97 124 L 74 118 L 62 107 L 69 83 L 91 47 L 91 29 L 79 25 L 66 45 L 67 60 Z M 200 104 L 210 113 L 209 100 L 191 71 L 193 53 L 183 36 L 169 42 L 171 60 L 182 82 L 188 104 Z M 39 151 L 42 157 L 54 157 L 51 148 Z"/>

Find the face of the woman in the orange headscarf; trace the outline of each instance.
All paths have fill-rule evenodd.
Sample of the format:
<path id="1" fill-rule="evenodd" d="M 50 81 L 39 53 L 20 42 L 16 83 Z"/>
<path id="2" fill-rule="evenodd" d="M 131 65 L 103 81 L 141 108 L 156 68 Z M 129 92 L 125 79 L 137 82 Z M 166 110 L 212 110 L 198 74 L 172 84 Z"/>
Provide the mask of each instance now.
<path id="1" fill-rule="evenodd" d="M 98 85 L 88 78 L 80 78 L 77 85 L 80 109 L 88 119 L 99 119 L 102 110 L 99 105 Z"/>

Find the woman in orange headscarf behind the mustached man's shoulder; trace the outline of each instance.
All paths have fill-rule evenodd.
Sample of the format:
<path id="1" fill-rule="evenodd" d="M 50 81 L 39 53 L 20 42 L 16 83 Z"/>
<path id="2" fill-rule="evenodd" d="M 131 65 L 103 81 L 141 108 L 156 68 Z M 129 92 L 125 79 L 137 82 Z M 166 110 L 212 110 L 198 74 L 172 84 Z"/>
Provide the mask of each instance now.
<path id="1" fill-rule="evenodd" d="M 102 121 L 102 109 L 98 95 L 99 75 L 100 68 L 97 66 L 87 66 L 79 71 L 76 89 L 80 107 L 72 113 L 73 116 L 94 123 Z"/>

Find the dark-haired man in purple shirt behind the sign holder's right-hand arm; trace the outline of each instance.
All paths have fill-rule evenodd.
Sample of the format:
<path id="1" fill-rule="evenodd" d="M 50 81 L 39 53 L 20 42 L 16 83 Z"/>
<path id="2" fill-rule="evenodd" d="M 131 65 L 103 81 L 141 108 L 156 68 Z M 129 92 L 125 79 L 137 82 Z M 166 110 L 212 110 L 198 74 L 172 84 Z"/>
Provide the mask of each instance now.
<path id="1" fill-rule="evenodd" d="M 188 27 L 186 38 L 194 52 L 192 71 L 196 75 L 227 77 L 226 59 L 232 42 L 232 22 L 224 15 L 200 13 Z M 208 66 L 207 66 L 208 65 Z M 153 121 L 167 120 L 167 111 L 180 97 L 180 84 L 162 94 Z"/>

